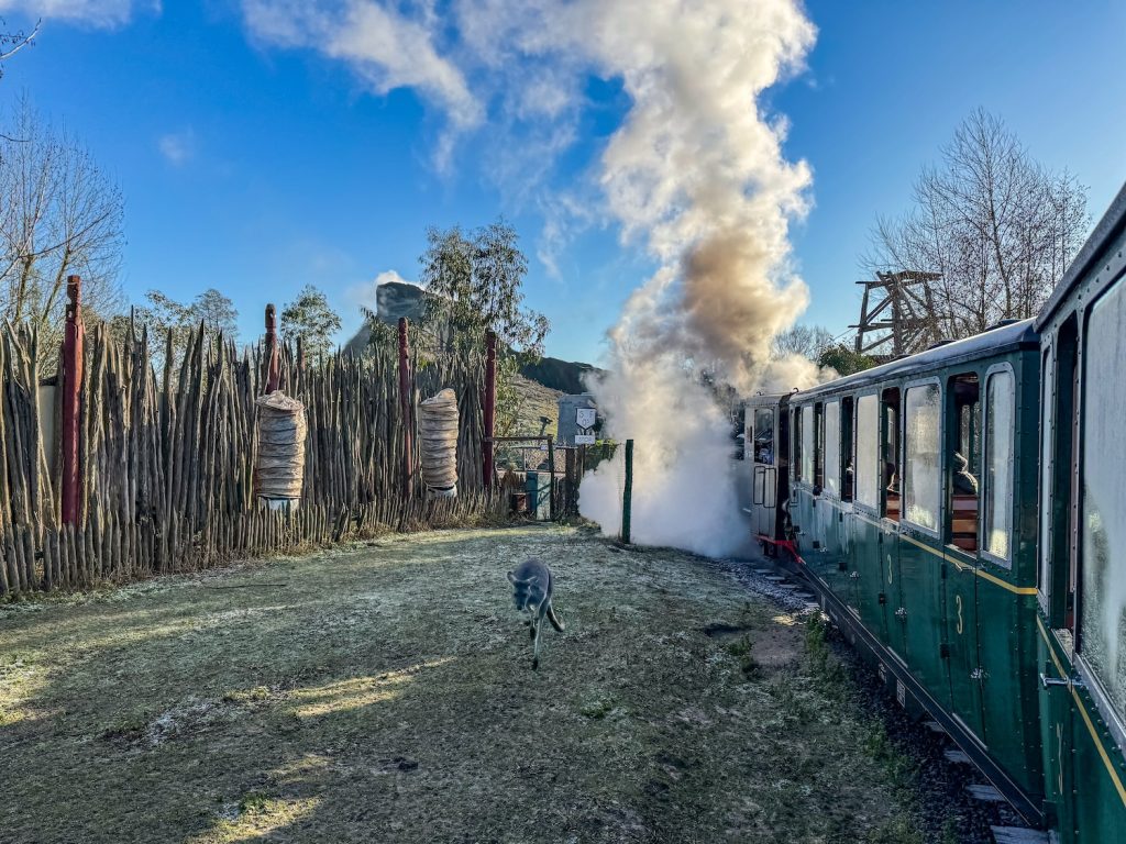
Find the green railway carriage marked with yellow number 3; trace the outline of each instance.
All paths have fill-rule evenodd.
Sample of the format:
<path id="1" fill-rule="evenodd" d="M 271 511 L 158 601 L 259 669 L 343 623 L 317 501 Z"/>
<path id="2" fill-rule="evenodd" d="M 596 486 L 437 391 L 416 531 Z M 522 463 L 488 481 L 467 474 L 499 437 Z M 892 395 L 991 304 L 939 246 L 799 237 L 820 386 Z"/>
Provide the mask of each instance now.
<path id="1" fill-rule="evenodd" d="M 1022 322 L 787 401 L 790 538 L 826 609 L 1037 821 L 1038 367 Z"/>

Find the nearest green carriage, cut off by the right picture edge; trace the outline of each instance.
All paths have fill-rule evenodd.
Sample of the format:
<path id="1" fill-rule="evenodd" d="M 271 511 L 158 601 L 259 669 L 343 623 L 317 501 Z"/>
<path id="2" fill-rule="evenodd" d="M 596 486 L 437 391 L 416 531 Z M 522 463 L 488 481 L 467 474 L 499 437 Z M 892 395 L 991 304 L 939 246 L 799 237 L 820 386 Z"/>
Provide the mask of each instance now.
<path id="1" fill-rule="evenodd" d="M 1126 188 L 1037 317 L 1040 735 L 1061 841 L 1126 841 Z"/>

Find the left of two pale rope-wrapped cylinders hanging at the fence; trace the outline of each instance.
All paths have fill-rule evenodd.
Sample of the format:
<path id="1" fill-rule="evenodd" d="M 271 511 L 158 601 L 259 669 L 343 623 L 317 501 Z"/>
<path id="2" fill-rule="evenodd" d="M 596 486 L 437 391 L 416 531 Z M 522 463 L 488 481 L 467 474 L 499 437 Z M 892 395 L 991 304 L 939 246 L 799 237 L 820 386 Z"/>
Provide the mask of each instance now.
<path id="1" fill-rule="evenodd" d="M 261 396 L 256 404 L 254 492 L 263 499 L 300 499 L 305 482 L 305 405 L 282 390 Z"/>

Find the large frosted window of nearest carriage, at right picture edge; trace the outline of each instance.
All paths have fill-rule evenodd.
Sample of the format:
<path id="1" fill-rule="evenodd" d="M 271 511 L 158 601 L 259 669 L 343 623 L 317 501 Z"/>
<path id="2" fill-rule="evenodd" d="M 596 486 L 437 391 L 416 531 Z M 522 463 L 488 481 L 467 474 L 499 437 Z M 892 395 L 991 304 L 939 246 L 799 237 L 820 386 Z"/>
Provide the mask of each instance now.
<path id="1" fill-rule="evenodd" d="M 1079 650 L 1126 717 L 1126 463 L 1121 383 L 1126 282 L 1096 302 L 1083 331 Z"/>

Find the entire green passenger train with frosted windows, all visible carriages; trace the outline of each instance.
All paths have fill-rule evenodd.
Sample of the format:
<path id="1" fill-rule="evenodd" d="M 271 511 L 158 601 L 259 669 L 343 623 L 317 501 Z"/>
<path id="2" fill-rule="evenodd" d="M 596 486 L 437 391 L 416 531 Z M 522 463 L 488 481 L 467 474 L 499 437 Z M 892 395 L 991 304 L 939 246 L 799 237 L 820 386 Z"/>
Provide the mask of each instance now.
<path id="1" fill-rule="evenodd" d="M 1053 841 L 1126 841 L 1126 188 L 1034 320 L 745 407 L 752 530 Z"/>

